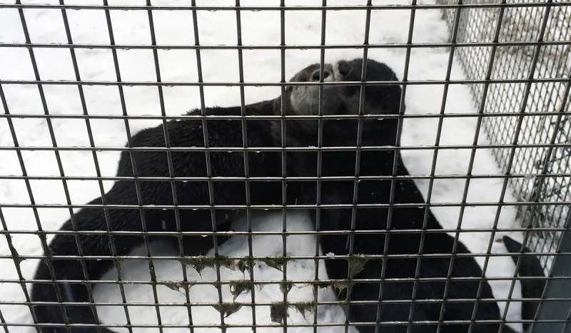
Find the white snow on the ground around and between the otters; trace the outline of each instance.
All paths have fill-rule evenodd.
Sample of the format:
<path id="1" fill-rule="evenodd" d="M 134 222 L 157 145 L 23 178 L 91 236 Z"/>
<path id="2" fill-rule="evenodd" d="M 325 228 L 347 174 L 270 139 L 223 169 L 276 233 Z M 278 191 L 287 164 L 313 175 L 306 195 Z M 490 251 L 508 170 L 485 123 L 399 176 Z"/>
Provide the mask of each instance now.
<path id="1" fill-rule="evenodd" d="M 9 1 L 0 1 L 9 3 Z M 31 1 L 23 1 L 30 3 Z M 57 3 L 58 1 L 43 0 L 42 3 Z M 144 4 L 144 1 L 123 0 L 109 1 L 115 4 Z M 188 1 L 163 0 L 153 1 L 154 5 L 186 4 Z M 218 6 L 233 5 L 231 0 L 203 0 L 196 1 L 198 5 Z M 431 3 L 431 1 L 418 1 Z M 366 1 L 328 1 L 329 5 L 365 4 Z M 379 0 L 374 4 L 408 4 L 405 0 Z M 66 4 L 101 4 L 99 1 L 74 0 Z M 243 6 L 276 6 L 276 0 L 241 1 Z M 286 1 L 287 5 L 320 5 L 321 1 L 296 0 Z M 109 36 L 106 18 L 103 11 L 83 10 L 67 11 L 71 36 L 74 43 L 108 44 Z M 27 26 L 31 41 L 34 43 L 67 43 L 61 11 L 47 9 L 26 9 Z M 113 34 L 118 44 L 150 44 L 148 13 L 146 11 L 111 11 Z M 158 44 L 194 45 L 193 21 L 191 11 L 154 11 L 153 21 Z M 243 11 L 241 14 L 242 40 L 245 45 L 272 45 L 280 43 L 280 14 L 278 11 Z M 410 11 L 374 11 L 371 16 L 370 43 L 405 43 L 408 39 L 408 26 Z M 320 43 L 320 11 L 288 11 L 285 14 L 285 43 L 288 45 L 308 45 Z M 201 45 L 236 45 L 236 12 L 235 11 L 199 11 L 198 27 Z M 325 41 L 328 44 L 363 43 L 365 31 L 364 11 L 330 11 L 327 14 L 327 28 Z M 440 20 L 440 10 L 417 11 L 415 15 L 413 43 L 445 42 L 448 39 L 448 30 L 445 22 Z M 0 9 L 0 42 L 24 43 L 24 34 L 21 28 L 19 14 L 16 9 Z M 325 61 L 335 61 L 338 58 L 352 58 L 362 56 L 362 50 L 332 49 L 325 52 Z M 118 63 L 123 81 L 156 81 L 153 53 L 150 50 L 118 49 Z M 66 48 L 34 48 L 34 56 L 42 80 L 75 80 L 74 68 L 70 52 Z M 79 73 L 86 81 L 116 81 L 116 71 L 113 66 L 111 50 L 102 48 L 76 49 L 79 63 Z M 403 78 L 405 68 L 405 50 L 396 48 L 370 49 L 370 58 L 384 61 L 391 66 L 399 78 Z M 443 80 L 448 66 L 448 50 L 445 48 L 415 48 L 410 53 L 409 80 Z M 0 78 L 2 80 L 34 80 L 34 71 L 26 48 L 0 47 Z M 287 50 L 285 51 L 285 75 L 289 78 L 300 68 L 319 61 L 318 50 Z M 190 81 L 198 79 L 196 66 L 196 53 L 193 50 L 171 49 L 158 50 L 158 60 L 163 81 Z M 202 75 L 206 82 L 231 81 L 238 82 L 238 52 L 235 50 L 211 49 L 201 51 Z M 243 66 L 244 80 L 246 82 L 277 82 L 281 79 L 281 53 L 278 50 L 244 50 Z M 458 63 L 453 63 L 452 79 L 465 78 Z M 6 95 L 6 103 L 11 114 L 43 114 L 38 88 L 36 86 L 2 85 Z M 76 86 L 45 85 L 44 93 L 47 106 L 51 114 L 81 114 L 81 100 Z M 406 105 L 408 114 L 439 113 L 443 99 L 442 85 L 409 86 L 406 90 Z M 122 114 L 121 101 L 116 86 L 84 86 L 86 108 L 90 115 Z M 156 86 L 126 86 L 126 109 L 129 115 L 161 114 L 161 105 L 158 99 Z M 206 87 L 204 88 L 206 106 L 235 106 L 241 102 L 240 90 L 237 87 Z M 200 105 L 198 88 L 188 86 L 164 87 L 164 106 L 169 116 L 180 115 L 190 108 Z M 253 103 L 278 96 L 277 87 L 247 87 L 245 88 L 246 103 Z M 475 113 L 470 90 L 468 86 L 451 85 L 446 98 L 445 113 Z M 19 145 L 22 147 L 51 147 L 49 127 L 41 118 L 14 119 Z M 471 145 L 476 133 L 477 118 L 447 118 L 443 121 L 440 135 L 441 145 Z M 130 120 L 131 133 L 160 123 L 158 120 Z M 89 147 L 89 136 L 86 123 L 82 119 L 59 118 L 51 120 L 55 133 L 55 140 L 61 147 Z M 126 129 L 122 120 L 94 119 L 90 121 L 91 130 L 96 146 L 119 147 L 126 143 Z M 402 145 L 433 145 L 437 138 L 438 119 L 418 118 L 408 119 L 404 122 Z M 479 143 L 486 143 L 485 135 L 480 133 Z M 14 140 L 11 137 L 6 118 L 0 118 L 0 146 L 12 147 Z M 470 164 L 470 150 L 447 149 L 438 153 L 436 175 L 465 175 Z M 96 152 L 101 175 L 112 176 L 116 171 L 118 152 Z M 67 176 L 95 176 L 94 158 L 90 151 L 66 150 L 60 153 L 61 164 Z M 59 176 L 59 167 L 55 154 L 50 151 L 24 150 L 22 158 L 28 175 Z M 413 175 L 430 174 L 432 164 L 432 150 L 404 150 L 403 158 Z M 19 160 L 14 150 L 0 150 L 0 175 L 22 175 Z M 473 175 L 499 175 L 495 160 L 490 150 L 477 150 L 473 163 Z M 465 180 L 446 179 L 435 180 L 433 183 L 432 203 L 460 203 L 465 189 Z M 65 204 L 66 196 L 60 180 L 31 180 L 31 189 L 34 200 L 38 204 Z M 103 182 L 104 190 L 111 188 L 112 182 Z M 418 180 L 418 185 L 424 193 L 428 192 L 428 180 Z M 86 203 L 100 195 L 98 183 L 88 180 L 67 181 L 72 204 Z M 461 217 L 463 230 L 485 230 L 493 226 L 497 207 L 470 207 L 470 203 L 495 203 L 500 198 L 502 179 L 473 179 L 470 180 L 468 197 Z M 505 194 L 505 202 L 514 202 L 510 195 L 511 190 Z M 0 179 L 0 203 L 30 203 L 29 193 L 23 180 Z M 37 230 L 34 212 L 29 208 L 2 208 L 8 230 Z M 440 219 L 445 228 L 456 228 L 460 218 L 460 208 L 433 208 L 433 212 Z M 44 208 L 38 210 L 39 220 L 44 230 L 57 230 L 69 218 L 69 211 L 65 208 Z M 293 216 L 292 216 L 293 215 Z M 288 230 L 311 230 L 308 215 L 298 212 L 288 215 Z M 515 209 L 512 206 L 503 206 L 497 220 L 497 227 L 509 228 L 518 225 L 515 221 Z M 253 230 L 282 229 L 281 213 L 278 215 L 261 215 L 252 221 Z M 245 222 L 236 221 L 236 230 L 244 230 Z M 517 240 L 522 240 L 520 233 L 510 234 Z M 477 253 L 486 253 L 487 247 L 492 245 L 492 252 L 505 252 L 505 247 L 495 239 L 502 236 L 497 232 L 490 240 L 490 232 L 467 232 L 460 235 L 460 240 L 468 248 Z M 35 235 L 11 235 L 11 240 L 19 255 L 41 255 L 39 238 Z M 282 238 L 279 236 L 253 237 L 254 254 L 276 255 L 282 252 Z M 289 236 L 287 239 L 288 255 L 315 255 L 315 240 L 310 236 Z M 9 247 L 4 237 L 0 240 L 1 279 L 18 280 L 14 261 L 9 257 Z M 164 252 L 166 249 L 159 245 L 153 250 Z M 220 249 L 221 254 L 244 255 L 248 253 L 248 242 L 245 237 L 233 237 Z M 328 254 L 329 255 L 329 254 Z M 477 257 L 480 265 L 485 257 Z M 37 265 L 37 260 L 25 260 L 20 263 L 21 272 L 26 278 L 31 278 Z M 181 280 L 181 264 L 176 261 L 156 260 L 156 274 L 158 280 Z M 325 278 L 323 262 L 319 265 L 319 275 Z M 512 277 L 515 265 L 510 257 L 490 257 L 485 274 L 488 279 L 494 277 Z M 315 273 L 313 260 L 298 260 L 290 262 L 287 267 L 288 279 L 313 279 Z M 106 278 L 111 279 L 115 272 L 109 272 Z M 202 276 L 192 268 L 187 270 L 189 279 L 216 280 L 216 273 L 206 269 Z M 263 264 L 253 271 L 256 280 L 281 280 L 283 273 Z M 222 268 L 222 280 L 243 280 L 241 272 Z M 126 280 L 144 280 L 148 277 L 148 265 L 145 262 L 126 260 L 123 262 L 123 276 Z M 246 274 L 247 276 L 247 274 Z M 246 277 L 248 278 L 248 277 Z M 1 282 L 1 281 L 0 281 Z M 495 297 L 508 296 L 511 281 L 490 280 Z M 126 285 L 128 302 L 153 302 L 153 290 L 144 285 Z M 165 286 L 156 288 L 159 302 L 181 304 L 180 307 L 160 307 L 163 324 L 188 324 L 188 309 L 184 307 L 186 297 L 181 292 L 171 290 Z M 218 292 L 211 285 L 195 285 L 190 290 L 192 302 L 218 302 Z M 255 290 L 256 302 L 280 302 L 283 294 L 279 284 L 266 285 Z M 515 282 L 513 298 L 521 297 L 519 282 Z M 96 288 L 97 302 L 120 302 L 117 287 L 104 285 Z M 228 285 L 223 287 L 222 297 L 231 301 L 233 295 Z M 298 285 L 288 294 L 290 300 L 308 301 L 312 299 L 312 288 L 307 285 Z M 18 285 L 13 283 L 0 284 L 0 309 L 8 323 L 29 323 L 31 316 L 25 306 L 10 304 L 10 302 L 23 302 L 24 293 Z M 333 300 L 332 291 L 322 292 L 320 300 Z M 248 302 L 251 294 L 241 294 L 238 301 Z M 503 311 L 504 302 L 499 302 Z M 156 307 L 131 306 L 128 307 L 133 324 L 156 324 Z M 98 313 L 103 322 L 108 324 L 125 324 L 125 314 L 122 307 L 98 307 Z M 213 307 L 192 307 L 193 322 L 195 324 L 217 324 L 220 314 Z M 313 314 L 303 317 L 295 310 L 288 312 L 289 324 L 313 323 Z M 520 303 L 510 302 L 508 320 L 520 319 Z M 238 312 L 225 319 L 227 324 L 251 324 L 251 308 L 243 307 Z M 256 307 L 257 324 L 273 324 L 269 308 Z M 343 323 L 345 315 L 337 306 L 319 307 L 318 322 Z M 511 324 L 521 331 L 520 324 Z M 12 326 L 12 333 L 32 332 L 31 327 Z M 186 327 L 165 328 L 165 332 L 187 330 Z M 250 328 L 229 328 L 232 332 L 249 332 Z M 270 332 L 272 329 L 258 328 L 258 332 Z M 288 328 L 299 332 L 310 332 L 311 327 Z M 320 332 L 341 332 L 344 327 L 323 327 Z M 115 329 L 126 332 L 125 329 Z M 204 332 L 206 329 L 196 329 L 195 332 Z M 157 332 L 156 328 L 133 329 L 133 332 Z M 351 328 L 353 332 L 353 328 Z"/>

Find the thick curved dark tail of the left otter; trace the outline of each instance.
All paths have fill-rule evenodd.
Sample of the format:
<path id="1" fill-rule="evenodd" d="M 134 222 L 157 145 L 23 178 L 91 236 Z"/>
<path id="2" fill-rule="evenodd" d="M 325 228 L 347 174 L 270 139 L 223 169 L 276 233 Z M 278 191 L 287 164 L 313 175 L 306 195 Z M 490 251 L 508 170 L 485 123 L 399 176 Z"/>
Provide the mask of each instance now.
<path id="1" fill-rule="evenodd" d="M 121 186 L 116 185 L 109 191 L 107 197 L 111 202 L 117 201 L 113 196 Z M 98 198 L 90 205 L 101 203 L 101 198 Z M 34 302 L 36 321 L 41 333 L 67 333 L 68 327 L 73 333 L 96 333 L 100 332 L 99 329 L 102 333 L 113 333 L 103 327 L 66 327 L 66 324 L 99 324 L 92 290 L 97 280 L 115 267 L 113 255 L 128 255 L 141 244 L 142 237 L 111 236 L 102 232 L 107 230 L 102 209 L 85 208 L 74 217 L 75 227 L 71 220 L 64 223 L 60 231 L 66 233 L 60 233 L 51 240 L 46 260 L 39 262 L 34 275 L 36 281 L 31 285 L 30 298 Z M 109 209 L 108 217 L 118 230 L 141 231 L 140 215 L 136 210 Z M 82 233 L 74 235 L 74 230 Z"/>

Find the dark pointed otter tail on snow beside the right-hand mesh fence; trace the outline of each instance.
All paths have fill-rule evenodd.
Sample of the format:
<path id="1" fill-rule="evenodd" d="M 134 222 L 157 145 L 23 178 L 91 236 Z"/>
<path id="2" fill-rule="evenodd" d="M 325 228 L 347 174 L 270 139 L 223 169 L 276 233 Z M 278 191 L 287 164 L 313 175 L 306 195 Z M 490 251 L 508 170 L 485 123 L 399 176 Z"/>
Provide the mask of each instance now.
<path id="1" fill-rule="evenodd" d="M 522 250 L 522 243 L 512 238 L 504 236 L 502 240 L 508 252 L 519 254 Z M 528 247 L 524 247 L 523 252 L 532 253 Z M 535 255 L 512 255 L 512 260 L 516 265 L 518 258 L 521 260 L 519 270 L 517 271 L 520 277 L 542 277 L 541 279 L 525 279 L 520 281 L 522 285 L 522 298 L 541 298 L 547 280 L 540 260 Z M 522 301 L 522 319 L 533 320 L 539 304 L 540 302 L 538 301 Z M 524 332 L 527 332 L 527 327 L 528 324 L 524 323 Z"/>

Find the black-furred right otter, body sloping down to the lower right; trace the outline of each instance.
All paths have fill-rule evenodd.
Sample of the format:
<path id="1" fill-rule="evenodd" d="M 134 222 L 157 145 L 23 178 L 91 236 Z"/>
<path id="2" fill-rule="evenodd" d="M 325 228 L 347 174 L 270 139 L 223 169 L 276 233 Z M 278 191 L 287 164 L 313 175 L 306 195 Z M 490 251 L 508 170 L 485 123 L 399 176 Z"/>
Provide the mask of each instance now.
<path id="1" fill-rule="evenodd" d="M 355 59 L 350 62 L 353 71 L 345 78 L 345 81 L 360 81 L 362 60 Z M 388 66 L 376 61 L 368 61 L 367 81 L 395 81 L 396 76 Z M 358 93 L 358 92 L 357 92 Z M 365 88 L 365 101 L 370 106 L 376 106 L 368 112 L 397 114 L 400 106 L 400 86 L 368 86 Z M 343 111 L 342 111 L 343 112 Z M 366 112 L 365 112 L 366 113 Z M 382 121 L 368 120 L 363 122 L 362 146 L 395 146 L 398 128 L 398 120 L 385 118 Z M 323 122 L 323 146 L 355 146 L 357 143 L 356 121 L 324 121 Z M 317 145 L 317 136 L 309 140 L 306 145 Z M 355 151 L 324 151 L 321 175 L 353 176 L 355 175 Z M 408 170 L 403 164 L 400 155 L 395 155 L 395 150 L 366 150 L 360 153 L 360 176 L 390 176 L 393 175 L 393 162 L 397 159 L 396 175 L 408 176 Z M 296 161 L 299 160 L 299 163 Z M 313 161 L 308 163 L 307 161 Z M 288 163 L 293 163 L 299 175 L 315 176 L 317 153 L 290 153 Z M 308 165 L 313 168 L 308 169 Z M 418 190 L 413 180 L 399 179 L 394 183 L 394 198 L 390 198 L 391 180 L 360 180 L 358 182 L 358 204 L 388 204 L 388 203 L 425 203 L 423 195 Z M 323 180 L 321 183 L 321 200 L 323 205 L 352 204 L 353 180 Z M 316 203 L 315 183 L 306 183 L 303 190 L 303 203 Z M 392 214 L 392 215 L 391 215 Z M 454 238 L 445 232 L 430 232 L 421 236 L 423 229 L 442 229 L 438 219 L 428 211 L 428 218 L 423 225 L 425 209 L 420 208 L 358 208 L 356 209 L 355 230 L 387 230 L 387 220 L 390 217 L 390 235 L 385 234 L 355 234 L 353 239 L 353 254 L 383 255 L 386 246 L 388 255 L 415 255 L 419 252 L 425 255 L 442 255 L 442 257 L 416 257 L 391 258 L 385 262 L 385 279 L 410 279 L 410 278 L 445 278 L 448 276 L 450 267 L 450 253 L 453 253 Z M 315 215 L 314 219 L 315 219 Z M 352 230 L 351 208 L 328 208 L 320 212 L 320 230 Z M 418 232 L 399 233 L 399 230 L 418 230 Z M 335 255 L 349 255 L 346 247 L 347 235 L 321 235 L 320 242 L 323 253 L 333 252 Z M 385 242 L 388 242 L 386 244 Z M 421 244 L 423 247 L 421 248 Z M 457 242 L 457 253 L 470 253 L 468 248 L 461 242 Z M 345 259 L 325 260 L 330 279 L 346 279 L 348 277 L 348 261 Z M 363 270 L 355 275 L 355 279 L 379 279 L 383 263 L 380 259 L 370 259 L 365 263 Z M 418 270 L 418 273 L 417 273 Z M 473 257 L 455 257 L 451 277 L 476 277 L 482 276 L 482 270 Z M 369 326 L 358 326 L 361 333 L 375 332 L 375 322 L 409 322 L 433 321 L 438 322 L 443 302 L 426 302 L 443 299 L 445 293 L 445 281 L 418 281 L 416 292 L 413 297 L 413 281 L 383 282 L 382 294 L 379 295 L 380 284 L 378 282 L 357 282 L 350 292 L 350 300 L 353 301 L 377 301 L 378 298 L 385 301 L 416 299 L 417 304 L 410 309 L 410 303 L 400 304 L 384 303 L 359 304 L 350 306 L 350 322 L 373 323 Z M 482 302 L 477 307 L 475 321 L 500 320 L 500 312 L 492 295 L 490 285 L 480 279 L 456 280 L 448 283 L 447 299 L 476 299 L 478 287 L 481 287 L 480 299 Z M 343 294 L 343 293 L 342 293 Z M 343 298 L 343 295 L 340 297 Z M 485 301 L 487 299 L 487 301 Z M 424 302 L 423 302 L 424 301 Z M 473 301 L 445 302 L 443 321 L 469 321 L 472 318 L 475 303 Z M 379 312 L 378 312 L 379 310 Z M 479 333 L 497 332 L 499 324 L 476 323 L 473 331 Z M 428 333 L 437 332 L 437 324 L 413 324 L 410 332 Z M 443 323 L 440 332 L 463 333 L 468 332 L 470 324 L 466 323 Z M 379 332 L 405 333 L 406 324 L 381 324 Z M 514 332 L 510 327 L 504 326 L 502 332 Z"/>

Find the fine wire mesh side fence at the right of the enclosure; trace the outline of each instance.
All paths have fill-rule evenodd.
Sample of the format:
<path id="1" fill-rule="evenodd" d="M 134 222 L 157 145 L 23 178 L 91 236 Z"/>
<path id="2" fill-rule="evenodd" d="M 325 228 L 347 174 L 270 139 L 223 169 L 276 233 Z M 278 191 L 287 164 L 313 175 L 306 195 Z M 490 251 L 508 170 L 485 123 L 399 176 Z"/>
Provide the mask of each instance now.
<path id="1" fill-rule="evenodd" d="M 491 80 L 507 78 L 569 78 L 571 46 L 554 43 L 537 49 L 535 41 L 565 42 L 571 38 L 571 8 L 548 7 L 545 0 L 468 0 L 464 4 L 540 4 L 465 9 L 460 14 L 458 43 L 495 43 L 495 46 L 459 48 L 458 58 L 468 78 Z M 456 1 L 442 0 L 442 4 Z M 543 4 L 543 5 L 541 5 Z M 452 29 L 455 10 L 443 9 L 443 17 Z M 525 42 L 525 43 L 520 43 Z M 536 51 L 537 50 L 537 51 Z M 536 54 L 537 53 L 537 54 Z M 492 61 L 490 61 L 492 59 Z M 484 113 L 544 113 L 537 117 L 484 118 L 483 128 L 493 144 L 537 144 L 512 152 L 494 148 L 497 162 L 505 172 L 526 174 L 512 178 L 514 195 L 522 202 L 557 203 L 569 201 L 571 150 L 569 133 L 569 93 L 565 82 L 503 83 L 473 85 L 477 108 Z M 564 146 L 548 148 L 560 143 Z M 560 175 L 563 174 L 563 175 Z M 542 177 L 548 175 L 548 177 Z M 520 206 L 522 226 L 562 227 L 570 214 L 567 205 Z M 537 252 L 552 252 L 559 244 L 558 232 L 532 232 L 529 245 Z M 552 257 L 542 257 L 549 270 Z"/>

